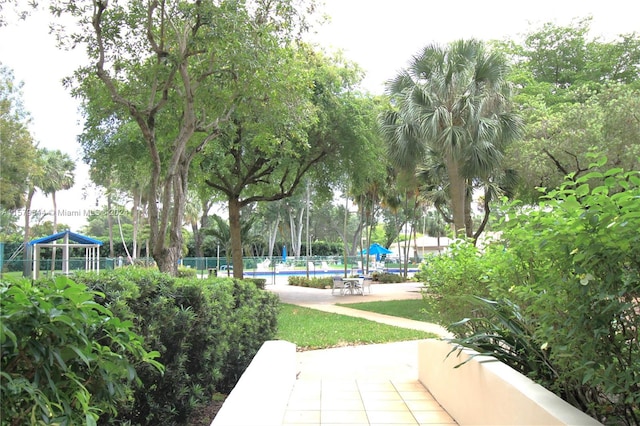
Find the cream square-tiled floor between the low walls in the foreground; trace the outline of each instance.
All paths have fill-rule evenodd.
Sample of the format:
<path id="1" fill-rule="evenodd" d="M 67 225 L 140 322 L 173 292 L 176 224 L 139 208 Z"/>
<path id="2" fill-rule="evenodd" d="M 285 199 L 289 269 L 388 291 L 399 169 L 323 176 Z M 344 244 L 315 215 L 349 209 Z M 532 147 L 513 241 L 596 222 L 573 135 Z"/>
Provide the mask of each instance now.
<path id="1" fill-rule="evenodd" d="M 298 380 L 283 425 L 455 425 L 417 380 Z"/>

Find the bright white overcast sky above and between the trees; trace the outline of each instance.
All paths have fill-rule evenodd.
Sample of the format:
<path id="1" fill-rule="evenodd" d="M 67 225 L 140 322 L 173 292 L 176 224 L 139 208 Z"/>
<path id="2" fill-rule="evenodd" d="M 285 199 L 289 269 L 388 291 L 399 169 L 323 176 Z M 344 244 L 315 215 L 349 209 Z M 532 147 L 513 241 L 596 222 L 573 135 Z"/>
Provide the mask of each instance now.
<path id="1" fill-rule="evenodd" d="M 324 0 L 330 22 L 311 39 L 328 51 L 342 50 L 366 72 L 363 87 L 380 94 L 384 82 L 404 68 L 428 44 L 461 38 L 517 40 L 545 22 L 569 25 L 591 16 L 592 35 L 611 40 L 640 32 L 637 0 Z M 40 147 L 60 149 L 76 160 L 76 185 L 57 194 L 58 221 L 79 231 L 86 214 L 104 204 L 98 193 L 82 199 L 88 168 L 81 161 L 76 136 L 82 131 L 78 102 L 62 87 L 84 57 L 63 52 L 48 34 L 50 18 L 36 14 L 25 22 L 0 28 L 0 62 L 23 82 L 23 101 L 32 117 L 31 132 Z M 50 198 L 36 195 L 34 208 L 51 210 Z M 51 217 L 45 220 L 52 220 Z"/>

